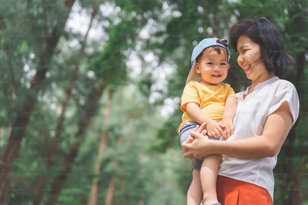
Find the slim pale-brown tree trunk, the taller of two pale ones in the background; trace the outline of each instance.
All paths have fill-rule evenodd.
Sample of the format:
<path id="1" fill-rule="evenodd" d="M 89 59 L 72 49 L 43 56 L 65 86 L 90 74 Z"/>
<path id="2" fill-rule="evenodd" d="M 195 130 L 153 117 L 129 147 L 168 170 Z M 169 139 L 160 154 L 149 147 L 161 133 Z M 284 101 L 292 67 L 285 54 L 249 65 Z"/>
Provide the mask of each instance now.
<path id="1" fill-rule="evenodd" d="M 112 94 L 111 94 L 112 95 Z M 110 112 L 111 112 L 111 96 L 109 97 L 106 107 L 105 107 L 105 117 L 103 121 L 103 126 L 107 124 L 107 122 L 110 119 Z M 107 142 L 108 142 L 108 132 L 105 131 L 101 134 L 100 141 L 99 141 L 99 148 L 97 151 L 97 156 L 96 156 L 96 165 L 95 165 L 95 177 L 93 178 L 92 181 L 92 188 L 90 191 L 89 199 L 87 204 L 97 204 L 97 199 L 98 199 L 98 193 L 99 193 L 99 186 L 98 186 L 98 179 L 99 179 L 99 173 L 100 173 L 100 166 L 102 163 L 102 156 L 103 152 L 105 151 L 107 147 Z"/>

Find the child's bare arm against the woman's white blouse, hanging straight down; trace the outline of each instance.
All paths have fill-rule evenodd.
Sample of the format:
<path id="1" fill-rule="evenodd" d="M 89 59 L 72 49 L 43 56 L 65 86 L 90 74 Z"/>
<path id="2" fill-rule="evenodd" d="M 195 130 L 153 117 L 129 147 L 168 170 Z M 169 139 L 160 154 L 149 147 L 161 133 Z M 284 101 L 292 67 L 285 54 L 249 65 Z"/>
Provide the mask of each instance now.
<path id="1" fill-rule="evenodd" d="M 229 97 L 225 103 L 224 113 L 222 115 L 221 124 L 225 125 L 225 140 L 233 134 L 233 117 L 237 110 L 237 98 Z"/>

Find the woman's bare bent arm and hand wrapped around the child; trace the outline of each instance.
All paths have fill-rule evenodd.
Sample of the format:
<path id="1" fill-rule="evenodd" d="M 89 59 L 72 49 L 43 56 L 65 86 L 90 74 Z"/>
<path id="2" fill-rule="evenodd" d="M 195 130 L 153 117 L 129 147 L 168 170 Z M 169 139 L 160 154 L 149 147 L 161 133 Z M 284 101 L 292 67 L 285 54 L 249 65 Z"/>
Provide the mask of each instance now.
<path id="1" fill-rule="evenodd" d="M 210 154 L 223 154 L 242 159 L 274 157 L 285 141 L 292 122 L 289 105 L 285 101 L 266 118 L 261 136 L 243 140 L 217 141 L 209 140 L 199 132 L 192 132 L 192 137 L 187 140 L 187 142 L 192 142 L 182 144 L 182 147 L 189 150 L 184 157 L 193 155 L 196 158 L 202 158 Z"/>

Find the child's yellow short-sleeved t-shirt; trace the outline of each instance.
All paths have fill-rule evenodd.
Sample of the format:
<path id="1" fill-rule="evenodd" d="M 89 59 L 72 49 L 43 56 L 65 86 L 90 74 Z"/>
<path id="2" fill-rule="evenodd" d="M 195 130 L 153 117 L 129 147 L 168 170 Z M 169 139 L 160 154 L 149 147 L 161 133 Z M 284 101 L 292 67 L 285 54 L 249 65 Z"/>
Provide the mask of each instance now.
<path id="1" fill-rule="evenodd" d="M 196 81 L 190 81 L 184 88 L 181 97 L 182 123 L 181 128 L 186 122 L 195 122 L 186 112 L 185 104 L 195 102 L 199 104 L 201 110 L 212 120 L 220 122 L 225 108 L 225 102 L 229 97 L 236 97 L 234 90 L 229 84 L 219 84 L 205 86 Z"/>

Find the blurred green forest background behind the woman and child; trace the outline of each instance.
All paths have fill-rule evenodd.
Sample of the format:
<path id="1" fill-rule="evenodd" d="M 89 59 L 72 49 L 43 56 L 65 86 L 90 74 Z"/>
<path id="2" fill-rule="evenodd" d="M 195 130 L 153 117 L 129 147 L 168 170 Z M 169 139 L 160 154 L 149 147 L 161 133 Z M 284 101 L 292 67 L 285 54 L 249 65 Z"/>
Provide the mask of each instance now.
<path id="1" fill-rule="evenodd" d="M 281 32 L 300 113 L 274 204 L 308 204 L 306 0 L 1 0 L 0 204 L 186 204 L 180 97 L 191 54 L 242 18 Z M 231 51 L 228 82 L 251 84 Z"/>

